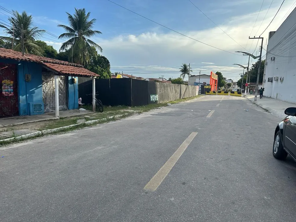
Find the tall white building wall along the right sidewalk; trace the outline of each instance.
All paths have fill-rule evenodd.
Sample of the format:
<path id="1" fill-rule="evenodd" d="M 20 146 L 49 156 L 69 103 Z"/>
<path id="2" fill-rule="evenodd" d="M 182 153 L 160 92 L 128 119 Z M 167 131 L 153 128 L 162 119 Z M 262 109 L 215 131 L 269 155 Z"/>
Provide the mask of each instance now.
<path id="1" fill-rule="evenodd" d="M 270 35 L 265 66 L 265 96 L 296 103 L 296 8 L 279 29 Z M 292 57 L 291 57 L 292 56 Z M 271 58 L 274 57 L 274 61 Z M 274 80 L 278 77 L 278 81 Z M 267 82 L 273 78 L 273 82 Z M 280 81 L 280 79 L 284 79 Z"/>

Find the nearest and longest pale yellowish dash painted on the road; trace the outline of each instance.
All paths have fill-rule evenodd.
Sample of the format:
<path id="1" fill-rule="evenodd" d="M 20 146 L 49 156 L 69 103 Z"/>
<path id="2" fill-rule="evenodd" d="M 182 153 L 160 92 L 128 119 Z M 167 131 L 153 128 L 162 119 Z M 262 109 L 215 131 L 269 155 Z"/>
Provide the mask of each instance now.
<path id="1" fill-rule="evenodd" d="M 191 143 L 197 132 L 192 132 L 189 137 L 179 146 L 175 153 L 168 159 L 168 161 L 159 169 L 159 171 L 152 177 L 152 179 L 146 184 L 144 190 L 155 191 L 157 187 L 162 183 L 168 173 L 171 171 L 175 163 L 180 156 L 186 150 L 187 146 Z"/>

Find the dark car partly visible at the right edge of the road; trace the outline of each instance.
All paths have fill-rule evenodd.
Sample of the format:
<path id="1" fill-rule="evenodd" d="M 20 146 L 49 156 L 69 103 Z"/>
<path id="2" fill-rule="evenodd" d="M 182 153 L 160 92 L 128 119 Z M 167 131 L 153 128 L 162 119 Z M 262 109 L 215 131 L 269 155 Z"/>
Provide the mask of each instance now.
<path id="1" fill-rule="evenodd" d="M 276 126 L 273 141 L 273 156 L 276 159 L 285 159 L 288 154 L 296 161 L 296 108 L 285 110 L 288 115 Z"/>

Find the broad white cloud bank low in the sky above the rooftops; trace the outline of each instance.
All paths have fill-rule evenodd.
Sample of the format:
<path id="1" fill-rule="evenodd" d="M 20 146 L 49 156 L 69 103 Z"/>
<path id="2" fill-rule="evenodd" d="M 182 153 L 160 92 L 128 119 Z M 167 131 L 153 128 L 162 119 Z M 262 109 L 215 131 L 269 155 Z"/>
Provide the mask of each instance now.
<path id="1" fill-rule="evenodd" d="M 232 1 L 228 4 L 234 6 L 237 3 L 238 2 Z M 247 3 L 252 3 L 254 5 L 258 2 L 257 0 L 239 1 L 239 4 Z M 264 37 L 264 45 L 268 36 L 268 32 L 274 31 L 279 27 L 279 23 L 293 3 L 293 0 L 285 1 L 285 4 L 282 6 L 273 23 L 262 36 Z M 265 27 L 267 27 L 274 14 L 278 10 L 278 7 L 279 5 L 277 4 L 272 5 L 265 20 L 260 26 L 261 21 L 267 12 L 267 9 L 261 10 L 251 36 L 254 36 L 255 34 L 258 36 L 261 34 L 256 33 L 257 30 L 259 29 L 259 32 L 262 32 Z M 227 34 L 233 39 L 235 39 L 239 45 L 217 27 L 196 31 L 182 31 L 182 33 L 206 44 L 213 45 L 214 47 L 232 53 L 241 50 L 245 51 L 244 48 L 253 53 L 253 51 L 256 49 L 255 46 L 257 41 L 248 40 L 248 36 L 256 20 L 258 14 L 257 10 L 257 7 L 254 7 L 254 12 L 252 13 L 229 17 L 227 20 L 220 21 L 220 23 L 223 23 L 223 25 L 218 23 L 220 28 L 227 32 Z M 286 16 L 288 16 L 288 14 Z M 161 23 L 161 21 L 159 22 Z M 161 30 L 162 29 L 154 29 L 152 32 L 143 32 L 140 35 L 135 35 L 134 33 L 119 33 L 114 38 L 96 38 L 94 41 L 103 48 L 102 54 L 109 59 L 113 72 L 123 71 L 127 74 L 133 74 L 142 77 L 158 77 L 162 75 L 164 75 L 165 78 L 172 76 L 177 77 L 179 76 L 179 66 L 182 63 L 195 63 L 209 64 L 213 66 L 192 66 L 193 74 L 197 75 L 199 70 L 201 70 L 202 74 L 209 74 L 210 71 L 220 71 L 224 77 L 236 80 L 239 79 L 239 73 L 242 73 L 243 69 L 231 64 L 238 63 L 245 65 L 248 62 L 248 57 L 241 56 L 239 53 L 238 55 L 233 55 L 209 47 L 200 42 L 196 42 L 175 32 L 170 31 L 165 33 Z M 49 44 L 53 45 L 54 48 L 59 49 L 61 43 L 51 42 Z M 240 45 L 242 45 L 244 48 L 242 48 Z M 258 48 L 259 45 L 257 46 L 257 49 Z M 223 66 L 219 66 L 221 64 L 223 64 Z"/>

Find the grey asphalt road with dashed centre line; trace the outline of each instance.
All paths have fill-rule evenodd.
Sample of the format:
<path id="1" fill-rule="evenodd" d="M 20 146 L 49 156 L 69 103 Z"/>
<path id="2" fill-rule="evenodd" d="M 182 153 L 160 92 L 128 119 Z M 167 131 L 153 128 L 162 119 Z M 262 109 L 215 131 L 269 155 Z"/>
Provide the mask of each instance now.
<path id="1" fill-rule="evenodd" d="M 0 147 L 0 221 L 294 222 L 296 165 L 272 156 L 279 121 L 206 96 Z"/>

